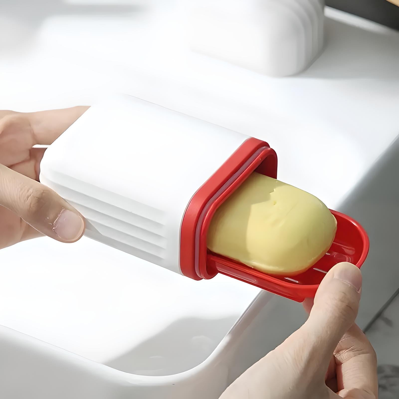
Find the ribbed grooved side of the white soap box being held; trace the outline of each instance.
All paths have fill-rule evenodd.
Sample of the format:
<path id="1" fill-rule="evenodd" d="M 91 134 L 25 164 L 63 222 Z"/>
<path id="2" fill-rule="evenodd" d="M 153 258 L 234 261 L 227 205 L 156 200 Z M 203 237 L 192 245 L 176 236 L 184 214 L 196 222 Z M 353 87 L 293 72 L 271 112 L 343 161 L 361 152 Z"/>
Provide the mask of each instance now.
<path id="1" fill-rule="evenodd" d="M 86 236 L 152 263 L 162 263 L 167 243 L 162 210 L 94 186 L 92 196 L 82 194 L 77 190 L 87 184 L 57 172 L 47 173 L 42 182 L 85 216 Z"/>

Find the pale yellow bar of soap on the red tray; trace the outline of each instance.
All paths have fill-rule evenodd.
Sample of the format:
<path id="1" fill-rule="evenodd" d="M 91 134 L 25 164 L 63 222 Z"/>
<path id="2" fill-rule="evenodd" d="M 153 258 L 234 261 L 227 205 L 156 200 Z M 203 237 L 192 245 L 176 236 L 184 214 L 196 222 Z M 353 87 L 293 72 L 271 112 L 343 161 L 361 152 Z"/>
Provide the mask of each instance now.
<path id="1" fill-rule="evenodd" d="M 264 273 L 295 275 L 328 251 L 336 229 L 318 198 L 254 172 L 215 212 L 207 246 Z"/>

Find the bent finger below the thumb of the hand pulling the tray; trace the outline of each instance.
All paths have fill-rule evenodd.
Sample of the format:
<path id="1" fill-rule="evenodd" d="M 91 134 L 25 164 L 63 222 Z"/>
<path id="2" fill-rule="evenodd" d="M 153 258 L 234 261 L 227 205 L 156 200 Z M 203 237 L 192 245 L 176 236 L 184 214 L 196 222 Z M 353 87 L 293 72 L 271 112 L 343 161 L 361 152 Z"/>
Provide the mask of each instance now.
<path id="1" fill-rule="evenodd" d="M 357 389 L 365 394 L 378 394 L 377 356 L 369 340 L 354 324 L 342 337 L 335 350 L 338 390 Z"/>

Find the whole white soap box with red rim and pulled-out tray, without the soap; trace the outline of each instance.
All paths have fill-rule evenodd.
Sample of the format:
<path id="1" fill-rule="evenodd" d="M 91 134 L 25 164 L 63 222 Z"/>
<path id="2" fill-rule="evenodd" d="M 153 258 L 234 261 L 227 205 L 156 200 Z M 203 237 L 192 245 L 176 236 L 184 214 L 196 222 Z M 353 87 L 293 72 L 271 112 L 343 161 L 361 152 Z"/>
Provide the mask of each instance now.
<path id="1" fill-rule="evenodd" d="M 367 235 L 335 211 L 328 253 L 299 275 L 209 251 L 213 215 L 253 172 L 277 178 L 266 142 L 126 95 L 73 123 L 45 152 L 40 180 L 82 213 L 88 237 L 192 279 L 223 273 L 302 301 L 336 263 L 362 265 Z"/>

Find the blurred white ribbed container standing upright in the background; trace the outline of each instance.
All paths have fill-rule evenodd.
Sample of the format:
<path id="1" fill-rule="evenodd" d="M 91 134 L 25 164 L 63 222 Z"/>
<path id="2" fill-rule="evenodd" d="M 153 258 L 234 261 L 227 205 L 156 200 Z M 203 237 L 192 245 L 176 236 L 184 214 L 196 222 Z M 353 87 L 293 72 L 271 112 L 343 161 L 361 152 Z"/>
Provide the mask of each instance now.
<path id="1" fill-rule="evenodd" d="M 324 0 L 190 0 L 190 47 L 265 75 L 295 75 L 324 44 Z"/>

